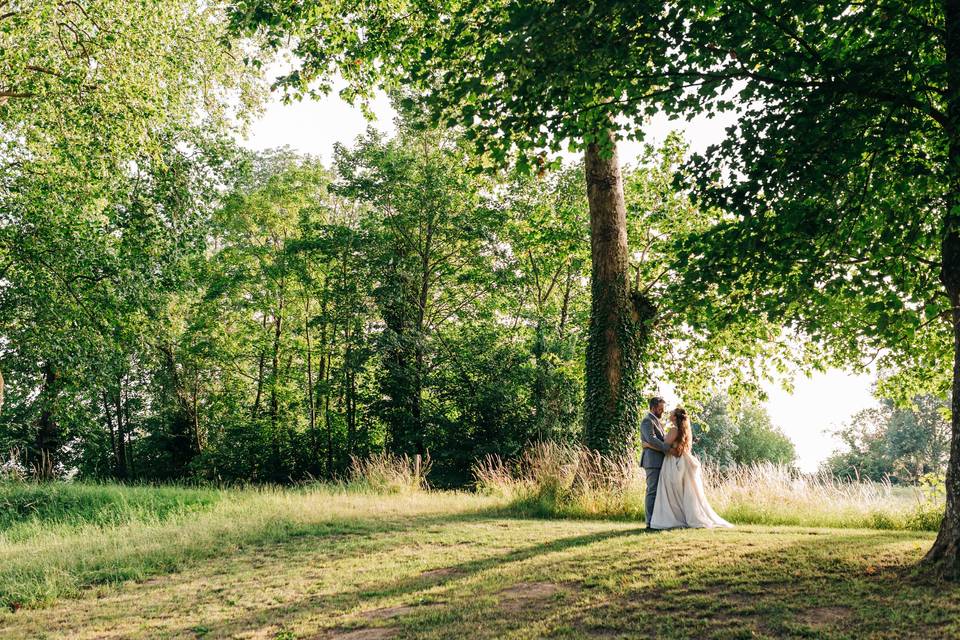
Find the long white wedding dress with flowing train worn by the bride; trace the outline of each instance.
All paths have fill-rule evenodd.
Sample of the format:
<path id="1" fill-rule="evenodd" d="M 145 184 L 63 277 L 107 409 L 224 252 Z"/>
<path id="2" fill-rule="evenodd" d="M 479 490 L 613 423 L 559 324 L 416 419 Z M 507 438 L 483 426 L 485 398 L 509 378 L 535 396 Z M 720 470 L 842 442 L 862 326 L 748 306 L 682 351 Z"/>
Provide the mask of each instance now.
<path id="1" fill-rule="evenodd" d="M 667 454 L 660 469 L 657 500 L 650 519 L 653 529 L 692 527 L 713 529 L 733 527 L 717 515 L 703 491 L 700 461 L 687 452 L 680 457 Z"/>

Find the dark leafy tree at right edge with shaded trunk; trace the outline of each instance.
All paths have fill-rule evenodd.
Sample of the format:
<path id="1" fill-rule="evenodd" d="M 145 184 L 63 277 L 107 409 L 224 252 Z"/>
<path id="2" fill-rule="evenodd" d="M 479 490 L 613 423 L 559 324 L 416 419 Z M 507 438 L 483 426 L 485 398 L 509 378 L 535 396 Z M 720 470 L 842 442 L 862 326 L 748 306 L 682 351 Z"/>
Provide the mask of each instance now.
<path id="1" fill-rule="evenodd" d="M 926 562 L 960 577 L 960 2 L 675 9 L 663 76 L 696 89 L 665 108 L 739 116 L 692 162 L 701 204 L 728 218 L 684 244 L 680 268 L 731 313 L 809 338 L 814 361 L 878 358 L 908 396 L 952 388 Z"/>

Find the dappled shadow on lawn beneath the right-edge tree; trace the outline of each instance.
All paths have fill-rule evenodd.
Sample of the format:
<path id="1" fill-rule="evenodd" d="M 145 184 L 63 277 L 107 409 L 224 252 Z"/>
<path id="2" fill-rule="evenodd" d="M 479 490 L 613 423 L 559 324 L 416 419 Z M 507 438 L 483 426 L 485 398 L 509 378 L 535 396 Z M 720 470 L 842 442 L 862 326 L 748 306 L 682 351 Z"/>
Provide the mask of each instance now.
<path id="1" fill-rule="evenodd" d="M 909 540 L 901 534 L 820 533 L 681 566 L 675 579 L 619 594 L 571 623 L 608 637 L 960 637 L 960 586 L 912 579 L 918 557 L 885 551 Z M 650 602 L 658 604 L 638 604 Z"/>

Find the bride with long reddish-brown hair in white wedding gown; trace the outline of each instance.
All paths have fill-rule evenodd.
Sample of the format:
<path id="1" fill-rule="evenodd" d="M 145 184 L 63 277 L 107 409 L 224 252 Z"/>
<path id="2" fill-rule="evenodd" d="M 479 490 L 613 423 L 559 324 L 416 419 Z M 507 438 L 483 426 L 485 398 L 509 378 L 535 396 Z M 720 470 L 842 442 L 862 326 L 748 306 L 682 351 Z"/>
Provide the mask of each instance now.
<path id="1" fill-rule="evenodd" d="M 692 437 L 687 410 L 683 407 L 674 409 L 670 414 L 670 422 L 673 427 L 667 432 L 664 442 L 671 448 L 664 457 L 663 468 L 660 470 L 660 483 L 650 527 L 732 527 L 732 524 L 717 515 L 703 492 L 700 461 L 690 453 Z"/>

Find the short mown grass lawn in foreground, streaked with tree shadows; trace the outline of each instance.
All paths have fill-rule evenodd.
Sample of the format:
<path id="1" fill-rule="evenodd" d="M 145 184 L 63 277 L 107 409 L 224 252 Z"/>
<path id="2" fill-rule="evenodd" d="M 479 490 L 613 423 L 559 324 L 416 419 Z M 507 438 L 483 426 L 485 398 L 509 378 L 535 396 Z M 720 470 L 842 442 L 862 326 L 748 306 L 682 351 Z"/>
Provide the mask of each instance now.
<path id="1" fill-rule="evenodd" d="M 7 544 L 0 561 L 25 561 L 19 546 L 51 572 L 82 574 L 85 556 L 106 555 L 72 596 L 0 613 L 0 637 L 960 637 L 960 589 L 912 573 L 930 533 L 647 533 L 632 522 L 510 517 L 463 494 L 303 500 L 299 526 L 246 537 L 242 527 L 203 537 L 201 525 L 216 533 L 226 516 L 201 513 L 131 529 L 139 542 L 109 553 L 100 547 L 121 544 L 122 526 L 99 541 L 77 529 Z M 175 535 L 184 526 L 199 538 Z M 134 563 L 149 545 L 189 550 L 191 540 L 166 570 L 98 584 L 96 572 L 110 572 L 97 563 Z M 71 544 L 74 556 L 58 546 Z M 57 564 L 45 552 L 64 555 Z"/>

